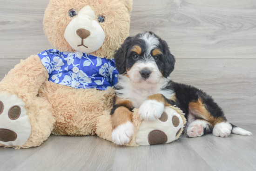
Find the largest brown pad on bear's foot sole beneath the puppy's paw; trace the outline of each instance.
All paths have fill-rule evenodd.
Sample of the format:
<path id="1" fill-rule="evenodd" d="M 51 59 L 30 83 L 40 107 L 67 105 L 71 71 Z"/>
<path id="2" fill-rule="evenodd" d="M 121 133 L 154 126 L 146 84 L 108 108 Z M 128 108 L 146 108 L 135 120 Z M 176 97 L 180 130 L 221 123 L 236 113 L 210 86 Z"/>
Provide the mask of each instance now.
<path id="1" fill-rule="evenodd" d="M 148 143 L 150 145 L 163 144 L 168 141 L 167 135 L 160 130 L 153 130 L 148 134 Z"/>

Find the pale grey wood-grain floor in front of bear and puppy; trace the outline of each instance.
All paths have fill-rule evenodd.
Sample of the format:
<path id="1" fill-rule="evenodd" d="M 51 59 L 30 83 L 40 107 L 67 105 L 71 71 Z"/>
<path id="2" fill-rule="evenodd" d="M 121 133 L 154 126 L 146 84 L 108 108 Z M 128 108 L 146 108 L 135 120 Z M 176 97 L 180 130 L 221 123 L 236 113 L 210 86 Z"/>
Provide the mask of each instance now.
<path id="1" fill-rule="evenodd" d="M 238 125 L 256 134 L 256 125 Z M 165 145 L 126 147 L 97 136 L 51 135 L 39 147 L 0 147 L 3 171 L 253 171 L 256 138 L 212 134 Z"/>

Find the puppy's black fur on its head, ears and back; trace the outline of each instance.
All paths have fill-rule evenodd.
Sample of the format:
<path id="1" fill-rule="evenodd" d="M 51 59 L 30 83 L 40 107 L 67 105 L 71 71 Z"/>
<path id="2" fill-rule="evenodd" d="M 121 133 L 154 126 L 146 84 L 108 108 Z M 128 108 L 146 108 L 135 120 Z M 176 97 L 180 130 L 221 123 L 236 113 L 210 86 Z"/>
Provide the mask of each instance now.
<path id="1" fill-rule="evenodd" d="M 162 77 L 167 78 L 170 75 L 170 73 L 173 72 L 174 66 L 175 66 L 175 57 L 170 53 L 167 42 L 162 40 L 152 32 L 149 32 L 149 34 L 154 35 L 159 40 L 159 44 L 157 45 L 156 48 L 158 48 L 162 52 L 162 54 L 158 54 L 157 55 L 158 58 L 155 59 L 152 53 L 154 49 L 151 50 L 150 54 L 146 53 L 147 46 L 144 40 L 140 39 L 142 34 L 137 34 L 134 37 L 128 37 L 128 39 L 125 40 L 121 48 L 118 49 L 115 53 L 115 62 L 116 62 L 117 70 L 120 72 L 120 74 L 123 74 L 126 72 L 126 70 L 130 69 L 135 64 L 136 61 L 145 60 L 145 59 L 147 60 L 149 58 L 155 59 L 156 65 L 158 66 L 159 70 L 162 72 Z M 133 58 L 133 55 L 135 54 L 135 52 L 131 51 L 131 48 L 135 45 L 138 45 L 141 47 L 141 54 L 139 54 L 139 57 L 137 59 Z M 118 87 L 118 88 L 121 89 L 122 87 Z M 176 96 L 175 100 L 167 99 L 164 97 L 164 95 L 163 97 L 168 104 L 176 105 L 177 107 L 179 107 L 185 113 L 185 118 L 187 120 L 190 114 L 189 103 L 197 102 L 199 99 L 201 99 L 202 105 L 203 105 L 202 107 L 204 107 L 211 116 L 209 118 L 212 118 L 212 117 L 221 118 L 220 122 L 227 121 L 222 109 L 216 104 L 216 102 L 214 102 L 212 97 L 206 94 L 205 92 L 203 92 L 202 90 L 195 88 L 194 86 L 175 83 L 170 80 L 168 84 L 164 88 L 162 88 L 162 90 L 172 90 L 175 93 L 175 96 Z M 111 114 L 114 113 L 117 107 L 119 106 L 116 106 L 114 103 Z M 133 108 L 129 108 L 128 106 L 125 106 L 125 107 L 127 107 L 130 111 L 133 110 Z M 202 120 L 202 118 L 195 118 L 195 119 Z M 216 123 L 214 122 L 214 124 Z M 204 129 L 204 134 L 212 133 L 213 126 L 214 126 L 213 123 L 210 123 L 208 128 Z M 232 125 L 232 127 L 234 128 L 236 126 Z"/>

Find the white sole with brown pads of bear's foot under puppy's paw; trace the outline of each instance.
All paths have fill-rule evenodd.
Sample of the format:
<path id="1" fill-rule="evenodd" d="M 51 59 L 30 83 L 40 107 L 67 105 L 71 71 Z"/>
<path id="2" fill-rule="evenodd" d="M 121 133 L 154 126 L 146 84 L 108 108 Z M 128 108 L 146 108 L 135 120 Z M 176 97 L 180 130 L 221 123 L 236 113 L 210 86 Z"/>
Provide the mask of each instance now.
<path id="1" fill-rule="evenodd" d="M 182 131 L 183 121 L 174 109 L 166 107 L 162 116 L 155 121 L 142 121 L 136 135 L 137 145 L 167 144 Z"/>

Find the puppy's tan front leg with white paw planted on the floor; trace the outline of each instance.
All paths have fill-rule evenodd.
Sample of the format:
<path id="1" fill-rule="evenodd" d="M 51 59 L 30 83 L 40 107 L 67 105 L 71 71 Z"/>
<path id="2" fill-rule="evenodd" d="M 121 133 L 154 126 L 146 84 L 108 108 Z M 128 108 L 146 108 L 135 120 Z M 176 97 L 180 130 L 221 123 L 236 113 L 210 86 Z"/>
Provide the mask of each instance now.
<path id="1" fill-rule="evenodd" d="M 111 111 L 112 141 L 117 145 L 128 143 L 134 135 L 134 125 L 132 124 L 133 112 L 131 103 L 128 100 L 115 100 Z"/>

